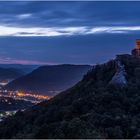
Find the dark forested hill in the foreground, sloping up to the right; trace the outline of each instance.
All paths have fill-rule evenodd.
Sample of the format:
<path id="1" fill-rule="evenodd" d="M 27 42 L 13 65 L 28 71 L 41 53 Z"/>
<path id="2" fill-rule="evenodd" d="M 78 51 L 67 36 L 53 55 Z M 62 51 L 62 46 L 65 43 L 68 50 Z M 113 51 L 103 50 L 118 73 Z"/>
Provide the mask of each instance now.
<path id="1" fill-rule="evenodd" d="M 110 81 L 124 66 L 126 84 Z M 117 56 L 71 89 L 0 123 L 0 138 L 140 138 L 140 59 Z"/>

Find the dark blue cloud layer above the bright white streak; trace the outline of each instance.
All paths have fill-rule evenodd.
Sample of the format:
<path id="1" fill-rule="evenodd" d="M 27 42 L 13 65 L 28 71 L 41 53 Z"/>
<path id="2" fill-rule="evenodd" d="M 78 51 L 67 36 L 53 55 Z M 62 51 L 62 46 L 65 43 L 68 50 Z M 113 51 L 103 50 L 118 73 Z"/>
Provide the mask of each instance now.
<path id="1" fill-rule="evenodd" d="M 140 2 L 0 2 L 2 23 L 23 26 L 138 25 Z M 29 18 L 17 18 L 31 14 Z"/>

